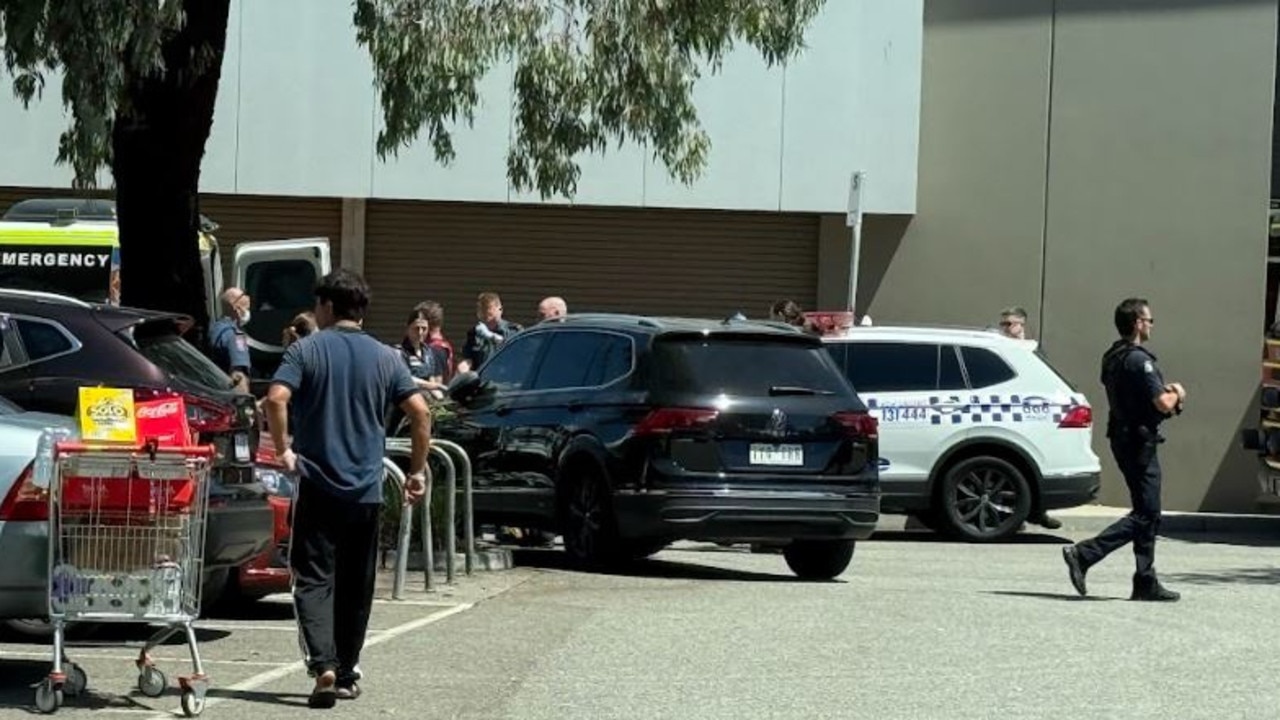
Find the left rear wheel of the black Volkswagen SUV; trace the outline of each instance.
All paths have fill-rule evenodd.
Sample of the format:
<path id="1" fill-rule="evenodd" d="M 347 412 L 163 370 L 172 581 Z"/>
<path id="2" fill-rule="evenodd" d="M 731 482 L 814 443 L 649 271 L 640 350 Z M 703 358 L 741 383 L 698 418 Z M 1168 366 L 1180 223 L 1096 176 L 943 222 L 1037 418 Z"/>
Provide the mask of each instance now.
<path id="1" fill-rule="evenodd" d="M 600 566 L 620 559 L 613 493 L 598 465 L 584 462 L 564 478 L 561 519 L 564 551 L 573 561 Z"/>

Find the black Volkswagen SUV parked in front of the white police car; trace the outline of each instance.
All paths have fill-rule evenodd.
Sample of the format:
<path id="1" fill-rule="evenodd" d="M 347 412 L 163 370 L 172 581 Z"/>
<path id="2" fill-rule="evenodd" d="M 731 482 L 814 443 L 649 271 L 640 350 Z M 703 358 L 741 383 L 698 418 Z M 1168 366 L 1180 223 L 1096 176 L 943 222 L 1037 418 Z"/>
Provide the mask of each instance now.
<path id="1" fill-rule="evenodd" d="M 559 532 L 581 562 L 759 542 L 826 579 L 879 518 L 876 419 L 791 328 L 570 315 L 512 336 L 451 397 L 435 434 L 472 460 L 476 520 Z"/>

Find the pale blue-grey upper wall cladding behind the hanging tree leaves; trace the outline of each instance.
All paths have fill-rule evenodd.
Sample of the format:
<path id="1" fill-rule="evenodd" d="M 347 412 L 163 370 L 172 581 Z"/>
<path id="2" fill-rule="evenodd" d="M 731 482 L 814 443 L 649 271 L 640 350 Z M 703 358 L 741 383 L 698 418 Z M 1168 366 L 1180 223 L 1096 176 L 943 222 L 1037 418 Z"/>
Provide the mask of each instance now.
<path id="1" fill-rule="evenodd" d="M 582 158 L 575 202 L 782 211 L 842 211 L 849 177 L 876 178 L 867 208 L 915 209 L 923 0 L 827 3 L 788 67 L 768 68 L 739 44 L 718 76 L 695 86 L 712 140 L 703 177 L 686 187 L 636 143 Z M 709 70 L 709 69 L 708 69 Z M 202 190 L 476 202 L 540 202 L 507 183 L 512 78 L 498 64 L 480 83 L 471 128 L 454 127 L 457 158 L 439 165 L 420 138 L 381 161 L 381 108 L 351 3 L 232 0 L 227 54 Z M 0 96 L 10 158 L 0 184 L 64 187 L 55 167 L 67 127 L 58 77 L 24 111 Z M 109 184 L 108 173 L 102 183 Z"/>

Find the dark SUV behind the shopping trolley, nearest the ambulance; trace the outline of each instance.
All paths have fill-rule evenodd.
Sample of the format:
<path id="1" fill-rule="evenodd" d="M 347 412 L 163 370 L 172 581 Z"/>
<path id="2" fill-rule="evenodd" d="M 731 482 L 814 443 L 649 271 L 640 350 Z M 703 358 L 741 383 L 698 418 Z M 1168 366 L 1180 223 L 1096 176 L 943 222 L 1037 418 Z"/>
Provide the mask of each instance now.
<path id="1" fill-rule="evenodd" d="M 207 606 L 227 570 L 273 542 L 273 510 L 256 482 L 251 395 L 178 333 L 182 315 L 0 290 L 0 396 L 26 410 L 74 415 L 81 386 L 182 396 L 187 420 L 216 451 L 205 536 Z"/>

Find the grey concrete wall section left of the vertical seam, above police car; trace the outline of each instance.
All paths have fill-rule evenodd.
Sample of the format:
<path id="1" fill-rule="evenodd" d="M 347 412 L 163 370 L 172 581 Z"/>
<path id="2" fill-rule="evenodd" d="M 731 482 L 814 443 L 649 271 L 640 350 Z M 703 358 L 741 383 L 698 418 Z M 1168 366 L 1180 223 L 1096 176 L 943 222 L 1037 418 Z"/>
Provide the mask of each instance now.
<path id="1" fill-rule="evenodd" d="M 925 3 L 916 215 L 905 234 L 873 218 L 863 238 L 858 304 L 877 322 L 1038 314 L 1051 5 Z"/>

